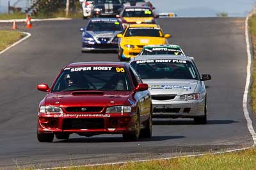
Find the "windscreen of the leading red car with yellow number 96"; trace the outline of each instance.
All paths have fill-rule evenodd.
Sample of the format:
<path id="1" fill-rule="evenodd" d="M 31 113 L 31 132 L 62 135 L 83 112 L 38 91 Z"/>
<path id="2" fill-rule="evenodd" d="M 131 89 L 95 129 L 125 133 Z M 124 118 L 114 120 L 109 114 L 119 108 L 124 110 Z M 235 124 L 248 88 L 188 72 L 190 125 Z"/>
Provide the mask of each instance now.
<path id="1" fill-rule="evenodd" d="M 52 92 L 75 90 L 131 91 L 124 67 L 86 66 L 65 68 L 52 86 Z"/>

